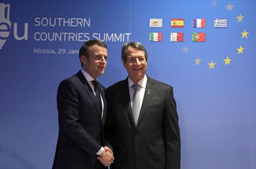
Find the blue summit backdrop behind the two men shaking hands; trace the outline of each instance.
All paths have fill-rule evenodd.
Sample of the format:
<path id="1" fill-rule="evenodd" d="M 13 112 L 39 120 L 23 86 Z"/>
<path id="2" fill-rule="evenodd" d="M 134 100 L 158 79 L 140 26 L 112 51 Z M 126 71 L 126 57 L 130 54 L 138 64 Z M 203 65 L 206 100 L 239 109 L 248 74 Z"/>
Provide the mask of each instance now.
<path id="1" fill-rule="evenodd" d="M 174 87 L 182 169 L 255 169 L 255 6 L 252 0 L 0 0 L 0 168 L 52 167 L 58 84 L 80 69 L 76 52 L 84 41 L 100 39 L 109 56 L 99 77 L 104 86 L 126 78 L 121 47 L 139 41 L 149 54 L 147 74 Z M 163 19 L 162 28 L 150 28 L 150 18 Z M 206 19 L 206 28 L 192 28 L 197 18 Z M 184 28 L 171 28 L 171 19 L 184 19 Z M 228 28 L 214 28 L 214 19 L 228 19 Z M 150 32 L 161 32 L 162 41 L 150 42 Z M 171 32 L 184 33 L 184 41 L 171 42 Z M 205 33 L 205 42 L 192 42 L 194 32 Z"/>

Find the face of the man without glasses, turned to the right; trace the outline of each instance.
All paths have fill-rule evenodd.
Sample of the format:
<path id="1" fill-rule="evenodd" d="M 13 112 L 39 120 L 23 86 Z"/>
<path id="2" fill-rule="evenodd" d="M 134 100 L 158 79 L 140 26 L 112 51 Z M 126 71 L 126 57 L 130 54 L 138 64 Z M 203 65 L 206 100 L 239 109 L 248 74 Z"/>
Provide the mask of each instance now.
<path id="1" fill-rule="evenodd" d="M 88 48 L 88 58 L 84 55 L 80 57 L 83 63 L 83 69 L 93 79 L 103 75 L 107 65 L 107 49 L 98 45 L 92 45 Z"/>

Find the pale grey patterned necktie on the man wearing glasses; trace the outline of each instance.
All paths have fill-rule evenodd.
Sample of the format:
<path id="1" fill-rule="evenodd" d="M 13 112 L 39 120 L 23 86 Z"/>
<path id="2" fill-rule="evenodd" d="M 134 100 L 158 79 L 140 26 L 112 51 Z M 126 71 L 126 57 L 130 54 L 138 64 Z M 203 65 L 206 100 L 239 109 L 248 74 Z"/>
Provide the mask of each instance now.
<path id="1" fill-rule="evenodd" d="M 137 126 L 138 118 L 140 115 L 139 85 L 137 83 L 134 83 L 132 87 L 134 88 L 134 94 L 132 99 L 132 113 L 133 113 L 135 125 Z"/>

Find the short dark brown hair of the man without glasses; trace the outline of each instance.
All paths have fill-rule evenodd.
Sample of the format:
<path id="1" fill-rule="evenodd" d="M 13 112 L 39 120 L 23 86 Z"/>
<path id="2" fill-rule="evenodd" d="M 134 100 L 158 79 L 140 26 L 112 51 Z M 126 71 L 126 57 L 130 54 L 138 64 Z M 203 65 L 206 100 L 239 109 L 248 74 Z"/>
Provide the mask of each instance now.
<path id="1" fill-rule="evenodd" d="M 103 43 L 102 41 L 100 40 L 89 40 L 89 41 L 86 41 L 82 47 L 80 48 L 79 50 L 79 60 L 81 59 L 81 56 L 84 55 L 85 57 L 87 57 L 87 59 L 89 59 L 89 56 L 88 56 L 88 48 L 91 47 L 92 45 L 98 45 L 100 47 L 104 47 L 107 49 L 107 45 L 105 43 Z M 80 60 L 81 62 L 81 60 Z M 83 63 L 81 62 L 81 66 L 83 67 Z"/>

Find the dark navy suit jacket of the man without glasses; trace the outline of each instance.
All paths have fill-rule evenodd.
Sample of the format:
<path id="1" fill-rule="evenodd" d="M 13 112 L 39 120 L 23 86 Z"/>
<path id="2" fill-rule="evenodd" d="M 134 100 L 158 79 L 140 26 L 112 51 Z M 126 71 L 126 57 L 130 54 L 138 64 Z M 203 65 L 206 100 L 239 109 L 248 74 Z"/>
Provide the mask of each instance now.
<path id="1" fill-rule="evenodd" d="M 60 83 L 57 93 L 59 135 L 53 168 L 106 168 L 96 159 L 96 153 L 103 146 L 107 110 L 105 88 L 101 84 L 99 87 L 104 101 L 103 117 L 98 100 L 81 71 Z"/>

